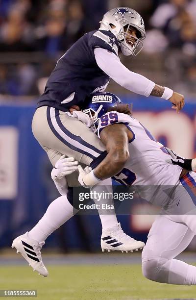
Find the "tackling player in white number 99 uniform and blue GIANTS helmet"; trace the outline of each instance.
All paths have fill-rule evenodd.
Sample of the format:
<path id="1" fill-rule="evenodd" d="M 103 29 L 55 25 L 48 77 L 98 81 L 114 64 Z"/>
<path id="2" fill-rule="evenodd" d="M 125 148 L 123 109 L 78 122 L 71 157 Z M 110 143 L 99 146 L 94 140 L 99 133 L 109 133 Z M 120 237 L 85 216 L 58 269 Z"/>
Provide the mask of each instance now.
<path id="1" fill-rule="evenodd" d="M 92 187 L 114 176 L 125 185 L 172 187 L 169 197 L 165 194 L 160 200 L 157 196 L 162 211 L 142 252 L 143 274 L 158 282 L 196 285 L 196 267 L 174 259 L 196 234 L 196 173 L 192 172 L 196 171 L 196 159 L 186 160 L 170 151 L 171 156 L 134 119 L 128 105 L 108 109 L 104 101 L 91 101 L 83 112 L 90 115 L 107 155 L 101 162 L 96 159 L 88 174 L 78 166 L 79 182 Z M 145 198 L 150 197 L 147 189 Z"/>

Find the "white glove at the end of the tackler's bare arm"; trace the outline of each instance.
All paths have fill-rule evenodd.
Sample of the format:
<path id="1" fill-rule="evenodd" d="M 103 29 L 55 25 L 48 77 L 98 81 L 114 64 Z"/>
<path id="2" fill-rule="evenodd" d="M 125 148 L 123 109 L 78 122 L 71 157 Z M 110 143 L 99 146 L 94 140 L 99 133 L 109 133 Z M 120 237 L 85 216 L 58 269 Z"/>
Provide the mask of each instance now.
<path id="1" fill-rule="evenodd" d="M 92 171 L 92 168 L 90 167 L 86 167 L 85 169 L 83 169 L 79 165 L 78 171 L 79 171 L 78 181 L 82 186 L 86 188 L 92 188 L 94 185 L 96 185 L 101 181 L 94 175 L 94 171 Z"/>

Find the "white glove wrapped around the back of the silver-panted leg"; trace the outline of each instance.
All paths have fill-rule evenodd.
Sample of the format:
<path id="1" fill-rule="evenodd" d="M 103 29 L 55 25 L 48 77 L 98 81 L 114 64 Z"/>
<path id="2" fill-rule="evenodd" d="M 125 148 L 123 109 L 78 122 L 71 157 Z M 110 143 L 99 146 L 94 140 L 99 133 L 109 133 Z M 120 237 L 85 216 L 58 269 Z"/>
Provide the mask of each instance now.
<path id="1" fill-rule="evenodd" d="M 65 158 L 65 155 L 62 155 L 52 169 L 51 177 L 53 180 L 59 180 L 76 170 L 78 170 L 78 161 L 74 160 L 73 157 Z"/>

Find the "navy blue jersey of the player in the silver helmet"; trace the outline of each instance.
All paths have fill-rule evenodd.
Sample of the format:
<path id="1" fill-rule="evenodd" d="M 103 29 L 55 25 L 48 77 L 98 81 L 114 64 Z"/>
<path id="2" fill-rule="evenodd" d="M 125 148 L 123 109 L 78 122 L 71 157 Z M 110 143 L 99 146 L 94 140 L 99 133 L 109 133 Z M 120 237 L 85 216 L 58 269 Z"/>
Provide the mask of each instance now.
<path id="1" fill-rule="evenodd" d="M 118 56 L 118 40 L 111 31 L 95 30 L 84 34 L 58 60 L 37 108 L 47 105 L 65 112 L 72 105 L 82 108 L 91 93 L 106 88 L 110 77 L 98 67 L 94 55 L 96 47 Z"/>

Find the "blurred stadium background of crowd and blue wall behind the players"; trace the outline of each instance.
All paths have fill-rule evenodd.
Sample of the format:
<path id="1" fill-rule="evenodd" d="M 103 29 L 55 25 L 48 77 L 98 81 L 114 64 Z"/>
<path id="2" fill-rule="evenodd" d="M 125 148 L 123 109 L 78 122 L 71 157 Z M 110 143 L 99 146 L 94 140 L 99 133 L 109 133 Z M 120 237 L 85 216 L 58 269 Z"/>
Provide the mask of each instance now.
<path id="1" fill-rule="evenodd" d="M 29 230 L 58 197 L 51 165 L 31 132 L 36 101 L 56 60 L 110 8 L 129 6 L 144 18 L 144 50 L 122 62 L 185 95 L 177 115 L 157 98 L 143 98 L 111 80 L 108 91 L 133 103 L 155 137 L 186 157 L 196 154 L 196 0 L 0 0 L 0 248 Z M 146 241 L 153 217 L 118 216 L 124 231 Z M 142 218 L 141 218 L 142 216 Z M 45 249 L 100 251 L 98 216 L 75 216 Z M 195 240 L 189 250 L 196 249 Z"/>

